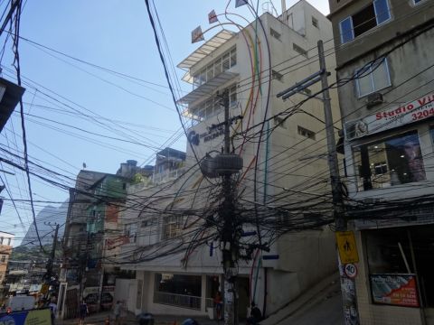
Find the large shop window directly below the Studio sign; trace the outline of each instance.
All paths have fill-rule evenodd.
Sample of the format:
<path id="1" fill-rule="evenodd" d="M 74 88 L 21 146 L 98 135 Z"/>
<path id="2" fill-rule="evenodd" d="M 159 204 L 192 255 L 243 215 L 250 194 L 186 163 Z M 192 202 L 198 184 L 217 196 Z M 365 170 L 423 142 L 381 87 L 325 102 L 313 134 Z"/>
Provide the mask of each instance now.
<path id="1" fill-rule="evenodd" d="M 425 181 L 416 131 L 353 148 L 358 190 Z"/>

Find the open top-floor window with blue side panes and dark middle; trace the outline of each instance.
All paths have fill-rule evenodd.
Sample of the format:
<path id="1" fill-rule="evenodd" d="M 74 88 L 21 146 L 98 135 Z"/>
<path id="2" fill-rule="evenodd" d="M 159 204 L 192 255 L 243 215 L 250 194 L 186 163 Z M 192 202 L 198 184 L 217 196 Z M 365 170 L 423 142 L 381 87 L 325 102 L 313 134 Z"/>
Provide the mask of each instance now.
<path id="1" fill-rule="evenodd" d="M 391 19 L 388 0 L 374 0 L 371 5 L 346 17 L 339 23 L 341 42 L 353 41 L 354 38 Z"/>

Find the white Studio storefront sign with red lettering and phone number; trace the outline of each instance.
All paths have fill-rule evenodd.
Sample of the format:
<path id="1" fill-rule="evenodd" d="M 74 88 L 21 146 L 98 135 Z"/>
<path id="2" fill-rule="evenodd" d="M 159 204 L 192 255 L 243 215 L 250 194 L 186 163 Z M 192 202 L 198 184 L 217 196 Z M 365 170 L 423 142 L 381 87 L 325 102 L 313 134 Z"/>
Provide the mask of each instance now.
<path id="1" fill-rule="evenodd" d="M 345 123 L 345 138 L 357 139 L 434 116 L 434 94 L 405 105 L 380 111 L 372 116 Z"/>

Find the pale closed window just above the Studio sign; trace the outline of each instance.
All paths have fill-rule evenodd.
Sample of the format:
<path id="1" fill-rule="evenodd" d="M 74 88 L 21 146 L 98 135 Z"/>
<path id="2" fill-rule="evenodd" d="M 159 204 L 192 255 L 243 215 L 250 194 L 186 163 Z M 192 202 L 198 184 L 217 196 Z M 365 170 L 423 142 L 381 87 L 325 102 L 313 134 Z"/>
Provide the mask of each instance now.
<path id="1" fill-rule="evenodd" d="M 355 83 L 359 98 L 392 85 L 387 60 L 376 60 L 355 72 Z"/>

